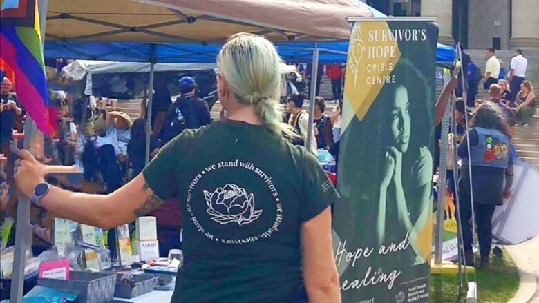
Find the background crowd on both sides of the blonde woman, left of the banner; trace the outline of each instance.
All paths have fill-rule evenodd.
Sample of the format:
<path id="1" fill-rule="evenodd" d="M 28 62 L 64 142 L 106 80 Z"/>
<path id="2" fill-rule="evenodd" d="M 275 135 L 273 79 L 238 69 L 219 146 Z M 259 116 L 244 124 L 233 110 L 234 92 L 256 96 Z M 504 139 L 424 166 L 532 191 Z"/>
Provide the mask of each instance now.
<path id="1" fill-rule="evenodd" d="M 309 99 L 309 77 L 303 65 L 298 64 L 296 72 L 286 75 L 284 83 L 289 89 L 281 92 L 281 106 L 285 109 L 283 122 L 289 124 L 294 135 L 291 137 L 296 145 L 304 146 L 308 133 L 308 113 L 303 110 L 303 103 Z M 309 66 L 308 66 L 309 67 Z M 329 150 L 335 157 L 338 153 L 339 121 L 341 117 L 341 86 L 342 81 L 336 75 L 342 77 L 343 72 L 340 64 L 332 64 L 327 67 L 321 66 L 321 72 L 332 77 L 334 99 L 339 99 L 339 104 L 334 106 L 332 115 L 325 114 L 326 101 L 323 97 L 316 97 L 314 110 L 314 138 L 310 152 L 316 155 L 317 149 Z M 59 72 L 61 75 L 61 72 Z M 64 77 L 65 78 L 65 77 Z M 213 119 L 210 106 L 214 100 L 197 97 L 198 87 L 193 77 L 182 77 L 178 81 L 180 95 L 175 101 L 167 86 L 166 75 L 157 73 L 153 90 L 151 117 L 148 117 L 149 109 L 146 106 L 148 98 L 141 102 L 140 118 L 131 119 L 127 114 L 118 110 L 117 99 L 103 95 L 84 95 L 73 85 L 69 79 L 62 78 L 65 90 L 50 90 L 49 105 L 54 105 L 53 113 L 56 115 L 57 133 L 44 138 L 44 157 L 39 160 L 46 164 L 73 166 L 84 176 L 83 182 L 69 184 L 62 180 L 48 178 L 53 184 L 62 185 L 70 190 L 86 193 L 113 193 L 115 190 L 135 178 L 146 166 L 146 129 L 149 120 L 151 135 L 149 159 L 155 157 L 160 148 L 171 141 L 174 137 L 186 129 L 197 129 L 200 126 L 210 124 Z M 338 84 L 339 88 L 335 87 Z M 292 89 L 290 89 L 292 87 Z M 23 133 L 23 121 L 25 112 L 13 85 L 7 77 L 2 82 L 2 106 L 1 120 L 1 153 L 9 158 L 6 165 L 6 177 L 3 177 L 2 186 L 6 188 L 3 193 L 3 219 L 8 216 L 15 219 L 17 203 L 17 188 L 13 186 L 12 165 L 15 159 L 10 151 L 14 130 L 15 133 Z M 212 102 L 211 102 L 212 101 Z M 223 110 L 220 119 L 225 119 L 227 113 Z M 21 144 L 18 146 L 21 148 Z M 6 195 L 6 193 L 10 193 Z M 181 216 L 178 202 L 167 201 L 162 210 L 155 210 L 151 215 L 158 217 L 160 251 L 166 254 L 171 248 L 177 248 Z M 6 211 L 10 210 L 10 211 Z M 38 219 L 43 218 L 36 218 Z M 36 225 L 37 226 L 37 225 Z M 39 239 L 38 249 L 44 249 L 50 242 L 49 228 L 35 228 L 36 235 L 48 235 Z M 174 231 L 174 232 L 173 232 Z M 3 239 L 4 245 L 12 245 L 15 228 L 12 228 L 10 237 Z M 113 230 L 109 233 L 113 239 Z"/>

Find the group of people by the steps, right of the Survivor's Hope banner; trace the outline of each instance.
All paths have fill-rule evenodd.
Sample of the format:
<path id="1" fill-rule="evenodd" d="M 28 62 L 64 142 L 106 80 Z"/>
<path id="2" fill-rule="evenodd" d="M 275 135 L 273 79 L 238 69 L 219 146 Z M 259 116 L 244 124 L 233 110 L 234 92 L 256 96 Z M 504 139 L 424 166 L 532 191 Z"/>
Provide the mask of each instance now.
<path id="1" fill-rule="evenodd" d="M 502 205 L 504 198 L 512 194 L 513 161 L 518 157 L 513 146 L 516 128 L 529 127 L 529 121 L 538 107 L 533 85 L 525 79 L 527 59 L 522 56 L 522 50 L 515 51 L 507 75 L 502 75 L 503 63 L 495 57 L 493 48 L 486 50 L 486 57 L 484 74 L 469 56 L 466 59 L 463 57 L 463 61 L 468 61 L 466 73 L 469 102 L 464 104 L 462 98 L 457 99 L 455 104 L 457 125 L 455 129 L 451 128 L 450 137 L 459 144 L 456 154 L 462 159 L 457 187 L 465 250 L 463 260 L 465 264 L 475 265 L 471 226 L 471 217 L 475 216 L 482 267 L 489 266 L 492 246 L 491 221 L 495 207 Z M 441 139 L 441 114 L 444 112 L 443 108 L 450 92 L 457 86 L 456 81 L 457 77 L 451 79 L 438 100 L 437 119 L 435 119 L 437 140 Z M 486 90 L 484 99 L 475 98 L 480 81 L 483 81 L 483 88 Z M 465 113 L 469 116 L 465 117 Z M 444 166 L 439 163 L 437 157 L 439 144 L 435 144 L 435 147 L 437 148 L 435 163 L 442 169 Z M 449 148 L 451 150 L 451 146 Z M 449 169 L 451 167 L 452 165 L 448 164 L 448 186 L 455 192 L 453 171 Z M 495 248 L 494 252 L 497 255 L 502 253 L 499 248 Z"/>

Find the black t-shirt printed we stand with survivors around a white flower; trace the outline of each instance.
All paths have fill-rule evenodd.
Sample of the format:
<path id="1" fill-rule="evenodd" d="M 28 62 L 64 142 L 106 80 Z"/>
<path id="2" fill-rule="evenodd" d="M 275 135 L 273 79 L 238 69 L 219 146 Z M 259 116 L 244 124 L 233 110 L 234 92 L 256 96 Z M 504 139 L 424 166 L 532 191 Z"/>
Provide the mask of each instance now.
<path id="1" fill-rule="evenodd" d="M 240 121 L 185 130 L 143 174 L 183 213 L 172 302 L 290 302 L 303 286 L 301 224 L 337 198 L 305 148 Z"/>

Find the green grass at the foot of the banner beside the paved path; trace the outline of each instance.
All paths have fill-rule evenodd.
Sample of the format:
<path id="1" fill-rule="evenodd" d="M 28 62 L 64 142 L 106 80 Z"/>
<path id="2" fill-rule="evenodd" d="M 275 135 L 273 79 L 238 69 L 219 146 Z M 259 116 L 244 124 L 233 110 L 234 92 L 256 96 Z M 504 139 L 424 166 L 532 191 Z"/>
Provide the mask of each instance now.
<path id="1" fill-rule="evenodd" d="M 504 250 L 504 257 L 493 257 L 491 255 L 490 268 L 477 268 L 477 297 L 478 302 L 483 303 L 504 303 L 515 295 L 519 279 L 518 271 L 509 257 L 509 253 Z M 477 260 L 477 264 L 479 260 Z M 469 281 L 473 281 L 473 274 L 469 274 Z M 451 303 L 466 302 L 466 280 L 463 275 L 463 291 L 459 296 L 458 275 L 433 275 L 431 277 L 431 302 Z M 442 291 L 439 291 L 439 286 Z"/>

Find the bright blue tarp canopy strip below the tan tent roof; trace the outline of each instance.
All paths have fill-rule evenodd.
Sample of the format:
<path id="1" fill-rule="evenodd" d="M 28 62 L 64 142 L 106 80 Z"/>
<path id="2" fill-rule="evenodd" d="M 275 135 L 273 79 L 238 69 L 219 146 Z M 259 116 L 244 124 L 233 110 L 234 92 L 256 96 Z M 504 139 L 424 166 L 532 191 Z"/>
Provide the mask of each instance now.
<path id="1" fill-rule="evenodd" d="M 316 44 L 321 50 L 321 63 L 346 62 L 348 41 Z M 312 61 L 315 43 L 276 43 L 278 52 L 287 63 Z M 69 58 L 106 61 L 160 63 L 215 62 L 220 44 L 151 44 L 138 42 L 62 42 L 45 43 L 46 58 Z M 453 47 L 438 44 L 436 61 L 452 62 Z"/>

